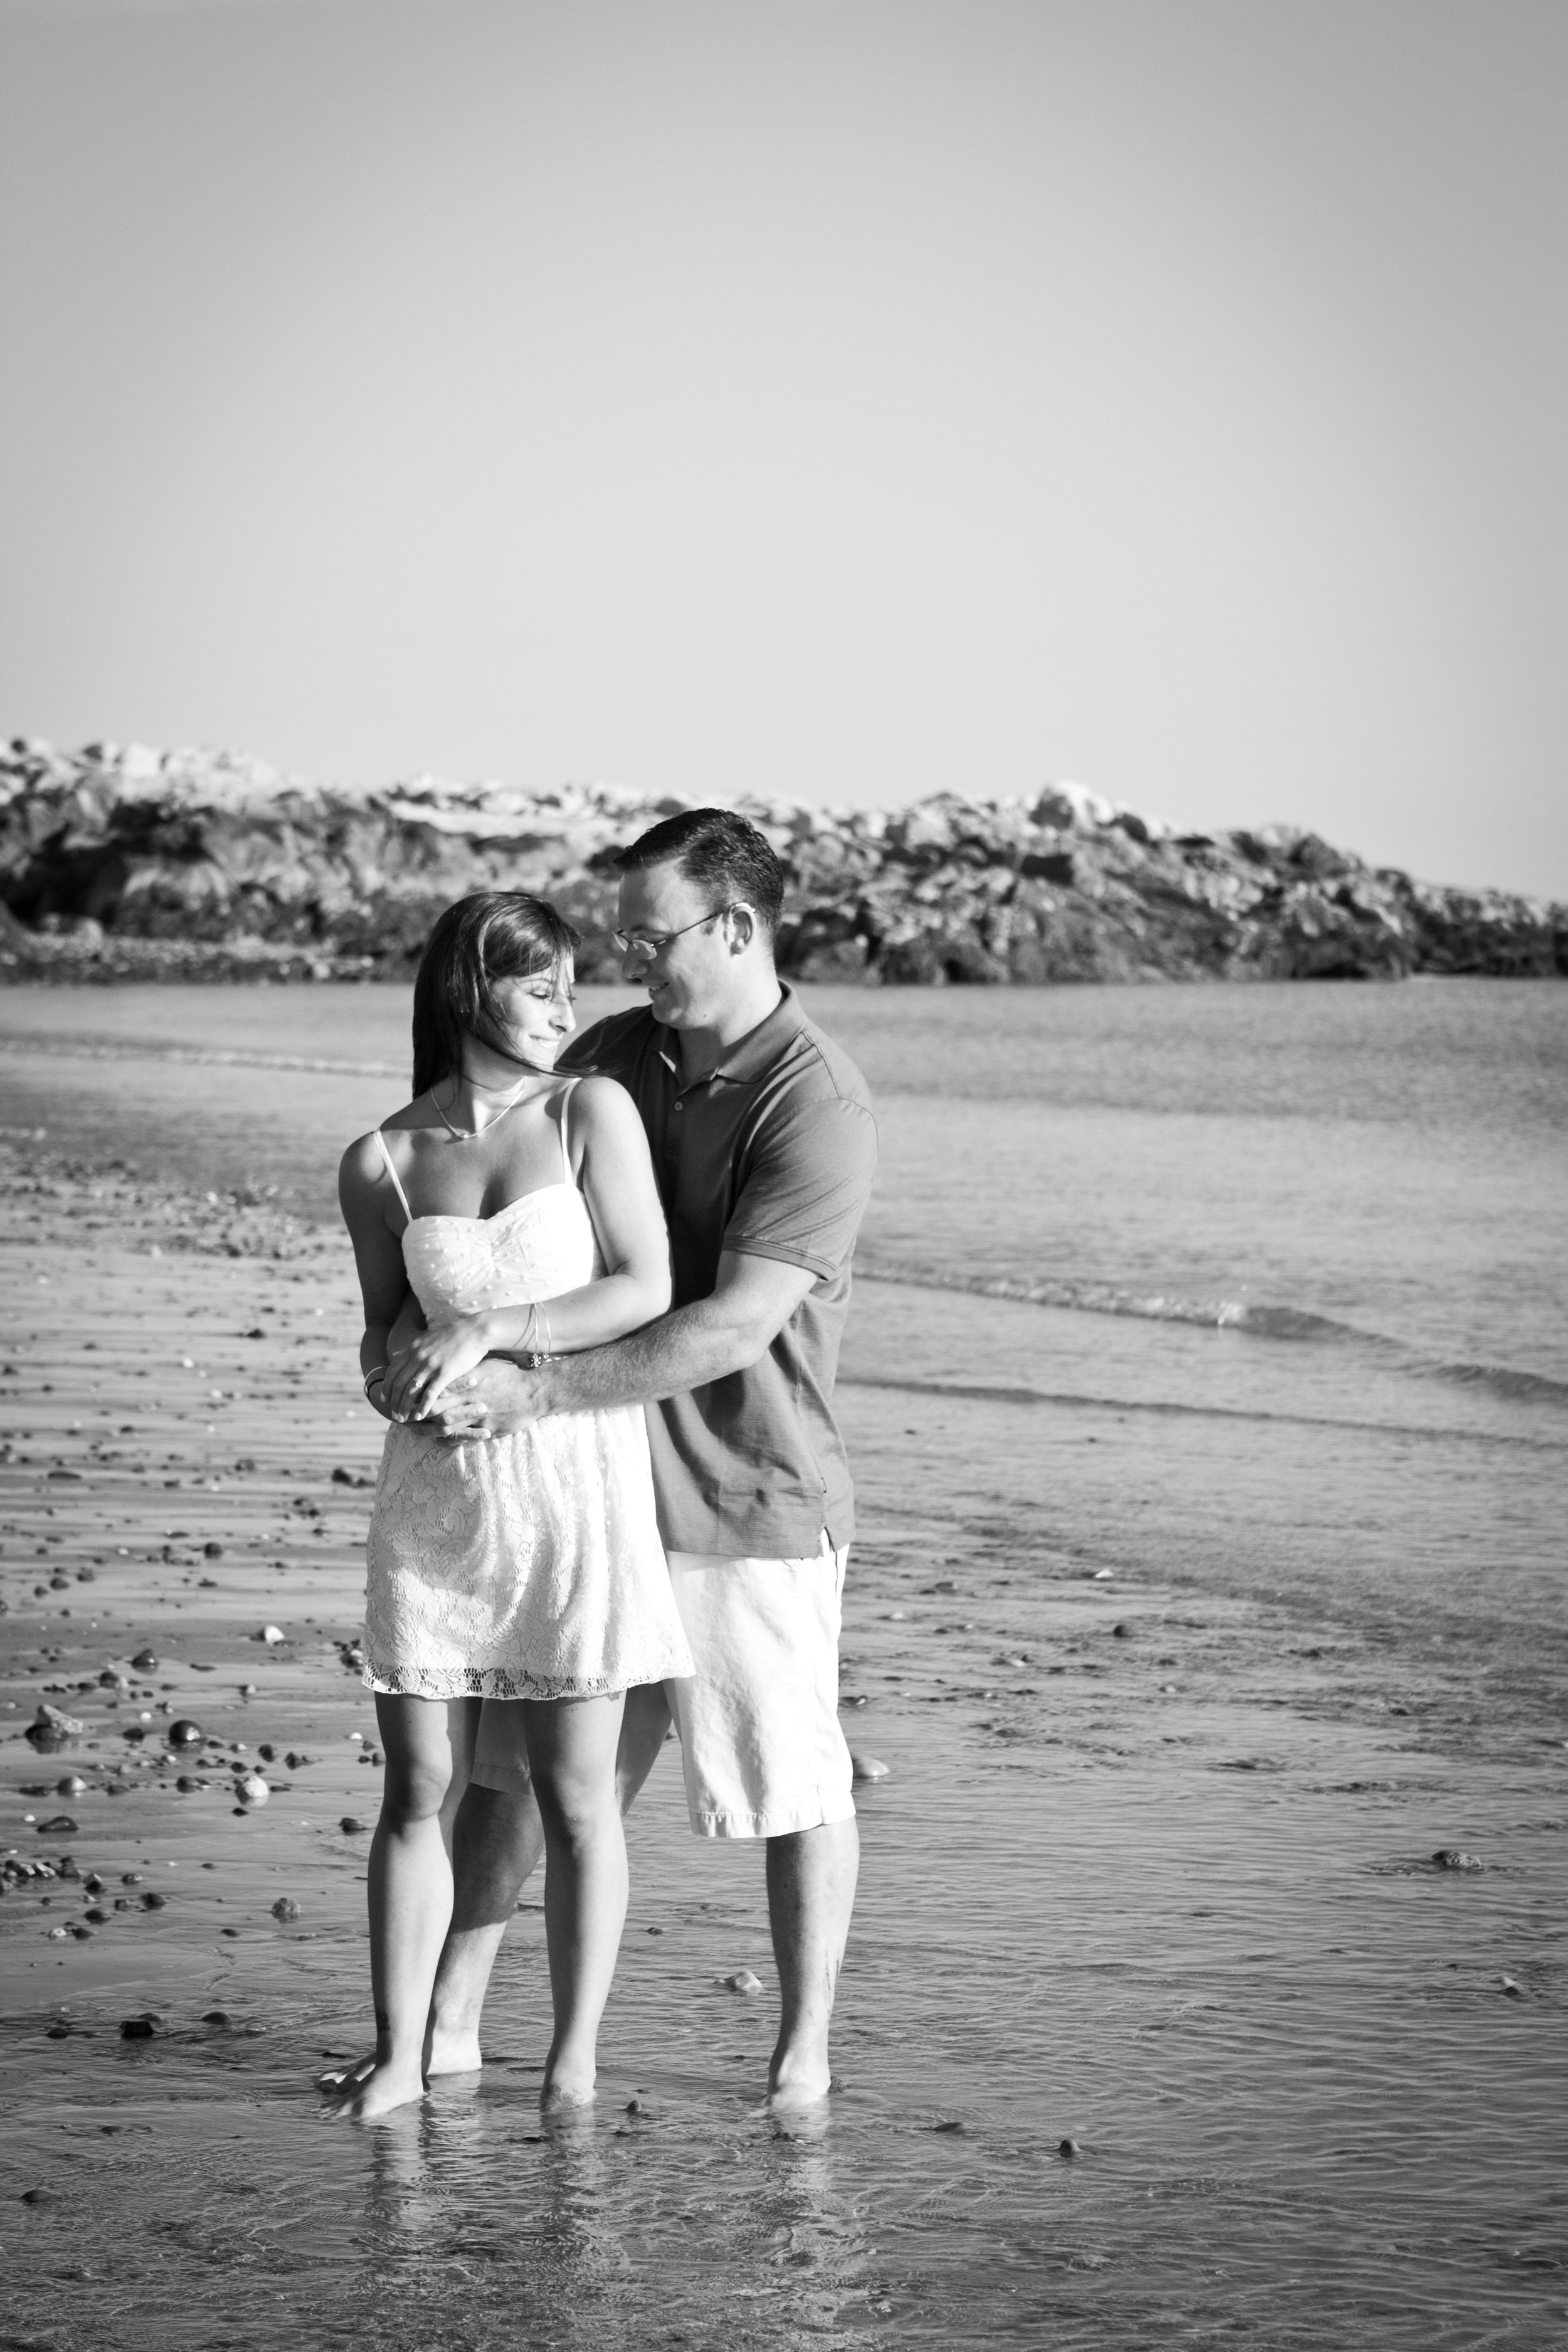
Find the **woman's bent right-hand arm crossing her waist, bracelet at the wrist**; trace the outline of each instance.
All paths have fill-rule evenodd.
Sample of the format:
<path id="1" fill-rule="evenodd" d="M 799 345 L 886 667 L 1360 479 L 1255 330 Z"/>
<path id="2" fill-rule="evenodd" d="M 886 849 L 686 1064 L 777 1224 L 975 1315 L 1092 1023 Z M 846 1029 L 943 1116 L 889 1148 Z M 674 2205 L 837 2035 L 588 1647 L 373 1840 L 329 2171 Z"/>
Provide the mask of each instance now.
<path id="1" fill-rule="evenodd" d="M 416 1336 L 388 1374 L 393 1414 L 428 1414 L 442 1388 L 487 1355 L 534 1345 L 576 1355 L 668 1312 L 670 1237 L 637 1105 L 614 1077 L 585 1077 L 571 1094 L 571 1129 L 583 1148 L 581 1185 L 604 1275 L 545 1301 L 538 1315 L 527 1305 L 494 1308 Z"/>

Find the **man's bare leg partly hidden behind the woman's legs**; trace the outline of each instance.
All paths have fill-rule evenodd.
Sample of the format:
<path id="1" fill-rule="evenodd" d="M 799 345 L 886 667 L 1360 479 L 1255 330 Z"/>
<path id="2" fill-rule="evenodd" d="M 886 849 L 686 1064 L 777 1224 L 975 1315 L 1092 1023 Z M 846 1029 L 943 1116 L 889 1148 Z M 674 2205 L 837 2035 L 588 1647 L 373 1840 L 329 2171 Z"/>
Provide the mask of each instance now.
<path id="1" fill-rule="evenodd" d="M 625 1693 L 616 1750 L 621 1813 L 630 1813 L 668 1729 L 670 1705 L 661 1682 Z M 545 1832 L 529 1790 L 480 1788 L 477 1780 L 463 1788 L 451 1820 L 451 1926 L 435 1971 L 425 2074 L 470 2074 L 480 2065 L 480 2016 L 496 1952 L 543 1849 Z M 341 2091 L 362 2082 L 374 2063 L 376 2053 L 367 2051 L 355 2065 L 322 2074 L 320 2084 Z"/>

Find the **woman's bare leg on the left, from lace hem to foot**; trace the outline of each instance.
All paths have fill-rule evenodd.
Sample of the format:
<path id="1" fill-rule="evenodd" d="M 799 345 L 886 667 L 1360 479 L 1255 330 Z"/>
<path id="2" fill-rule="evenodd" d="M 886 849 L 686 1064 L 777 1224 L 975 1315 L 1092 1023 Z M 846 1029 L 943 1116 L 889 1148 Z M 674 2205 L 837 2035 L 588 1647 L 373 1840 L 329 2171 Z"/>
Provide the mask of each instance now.
<path id="1" fill-rule="evenodd" d="M 381 1818 L 369 1849 L 369 1973 L 376 2063 L 355 2070 L 334 2110 L 367 2124 L 423 2091 L 430 1987 L 451 1919 L 451 1856 L 442 1811 L 468 1780 L 477 1698 L 376 1693 L 386 1748 Z M 444 1835 L 447 1832 L 447 1835 Z"/>

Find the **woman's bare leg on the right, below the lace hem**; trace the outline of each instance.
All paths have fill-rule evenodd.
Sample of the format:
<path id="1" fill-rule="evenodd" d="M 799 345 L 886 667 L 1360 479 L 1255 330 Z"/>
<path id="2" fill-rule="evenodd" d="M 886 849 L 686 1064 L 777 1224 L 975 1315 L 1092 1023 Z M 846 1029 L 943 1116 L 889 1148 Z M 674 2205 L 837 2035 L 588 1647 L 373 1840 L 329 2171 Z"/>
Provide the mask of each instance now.
<path id="1" fill-rule="evenodd" d="M 595 2044 L 625 1926 L 625 1832 L 616 1802 L 614 1698 L 524 1700 L 534 1795 L 545 1825 L 545 1947 L 555 2034 L 541 2107 L 592 2098 Z"/>

